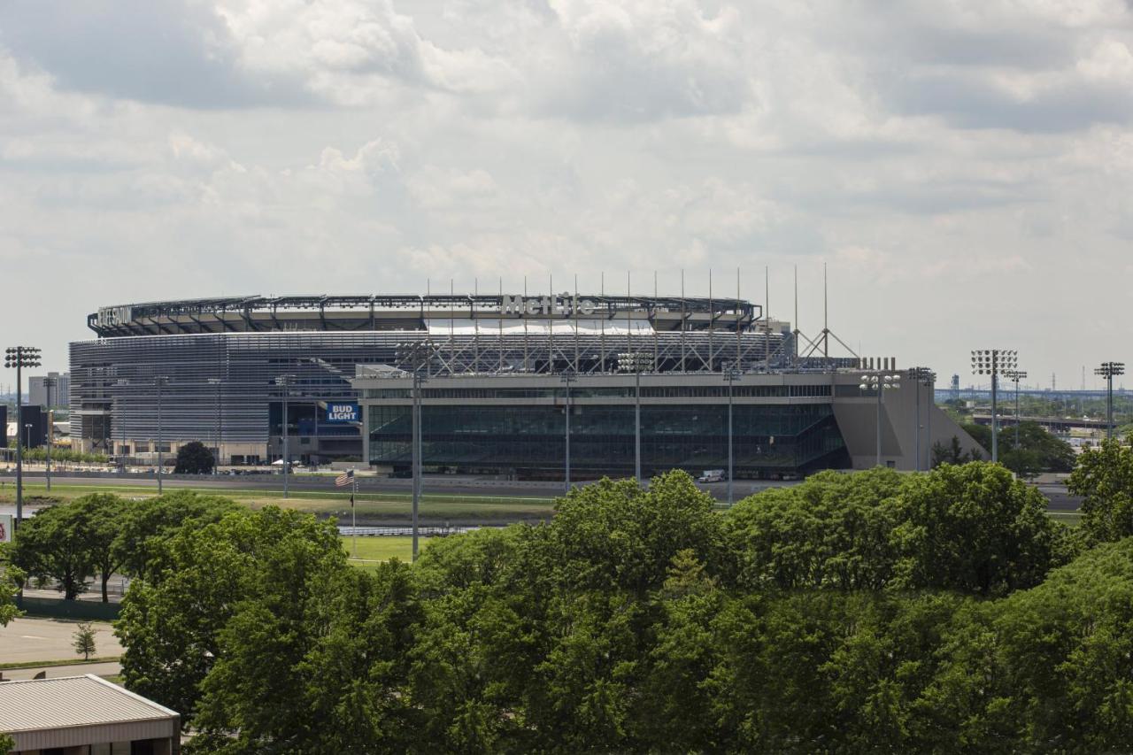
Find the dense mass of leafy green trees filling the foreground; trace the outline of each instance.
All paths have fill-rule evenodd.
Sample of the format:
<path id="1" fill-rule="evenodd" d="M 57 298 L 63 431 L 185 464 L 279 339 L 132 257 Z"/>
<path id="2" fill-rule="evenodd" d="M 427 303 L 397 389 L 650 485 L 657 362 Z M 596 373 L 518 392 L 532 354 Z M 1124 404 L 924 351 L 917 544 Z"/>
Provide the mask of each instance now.
<path id="1" fill-rule="evenodd" d="M 1076 528 L 987 463 L 723 514 L 670 473 L 373 571 L 178 492 L 130 504 L 122 677 L 199 753 L 1128 752 L 1133 451 L 1071 489 Z"/>

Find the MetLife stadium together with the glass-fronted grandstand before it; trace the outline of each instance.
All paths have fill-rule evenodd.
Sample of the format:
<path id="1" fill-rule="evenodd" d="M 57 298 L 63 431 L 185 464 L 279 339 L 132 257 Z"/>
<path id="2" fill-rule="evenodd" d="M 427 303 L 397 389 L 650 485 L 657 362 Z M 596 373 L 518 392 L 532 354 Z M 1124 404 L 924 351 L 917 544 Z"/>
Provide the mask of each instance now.
<path id="1" fill-rule="evenodd" d="M 932 442 L 970 443 L 922 380 L 861 388 L 901 384 L 893 359 L 832 357 L 739 298 L 249 296 L 102 307 L 87 325 L 71 432 L 114 457 L 202 441 L 221 464 L 270 464 L 287 436 L 303 463 L 407 475 L 415 375 L 435 473 L 562 480 L 568 426 L 579 480 L 632 474 L 638 453 L 646 475 L 723 469 L 730 436 L 744 478 L 926 468 Z"/>

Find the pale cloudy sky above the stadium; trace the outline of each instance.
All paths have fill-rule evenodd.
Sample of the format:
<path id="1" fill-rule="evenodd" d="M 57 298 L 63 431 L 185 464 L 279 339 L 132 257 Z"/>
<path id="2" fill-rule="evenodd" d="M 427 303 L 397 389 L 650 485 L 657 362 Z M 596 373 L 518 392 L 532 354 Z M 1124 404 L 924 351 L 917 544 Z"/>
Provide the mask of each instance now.
<path id="1" fill-rule="evenodd" d="M 3 0 L 0 346 L 682 270 L 783 320 L 798 270 L 813 336 L 825 265 L 864 356 L 1092 388 L 1133 365 L 1131 45 L 1126 0 Z"/>

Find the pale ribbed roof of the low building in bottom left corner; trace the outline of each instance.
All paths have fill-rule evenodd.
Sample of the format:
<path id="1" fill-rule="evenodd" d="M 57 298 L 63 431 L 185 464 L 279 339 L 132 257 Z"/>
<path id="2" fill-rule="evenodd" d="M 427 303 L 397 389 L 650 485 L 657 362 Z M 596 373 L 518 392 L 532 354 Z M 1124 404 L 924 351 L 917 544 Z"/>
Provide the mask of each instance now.
<path id="1" fill-rule="evenodd" d="M 0 731 L 165 721 L 174 711 L 94 675 L 0 682 Z"/>

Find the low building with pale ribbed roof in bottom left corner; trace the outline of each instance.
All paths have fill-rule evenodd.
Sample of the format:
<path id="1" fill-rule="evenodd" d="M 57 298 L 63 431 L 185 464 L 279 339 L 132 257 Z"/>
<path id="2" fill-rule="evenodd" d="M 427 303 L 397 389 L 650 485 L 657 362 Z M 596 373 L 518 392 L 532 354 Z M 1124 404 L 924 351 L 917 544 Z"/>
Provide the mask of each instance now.
<path id="1" fill-rule="evenodd" d="M 0 682 L 0 732 L 14 755 L 178 755 L 181 716 L 94 675 Z"/>

